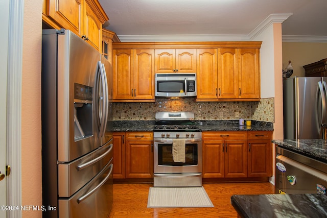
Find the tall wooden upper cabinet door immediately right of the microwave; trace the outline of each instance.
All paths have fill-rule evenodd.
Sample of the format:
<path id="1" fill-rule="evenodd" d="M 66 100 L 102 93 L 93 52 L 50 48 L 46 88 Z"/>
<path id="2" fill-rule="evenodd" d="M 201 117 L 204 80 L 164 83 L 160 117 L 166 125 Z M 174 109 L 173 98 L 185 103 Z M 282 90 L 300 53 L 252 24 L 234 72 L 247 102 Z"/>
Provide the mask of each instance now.
<path id="1" fill-rule="evenodd" d="M 217 49 L 198 49 L 197 100 L 218 99 Z"/>

